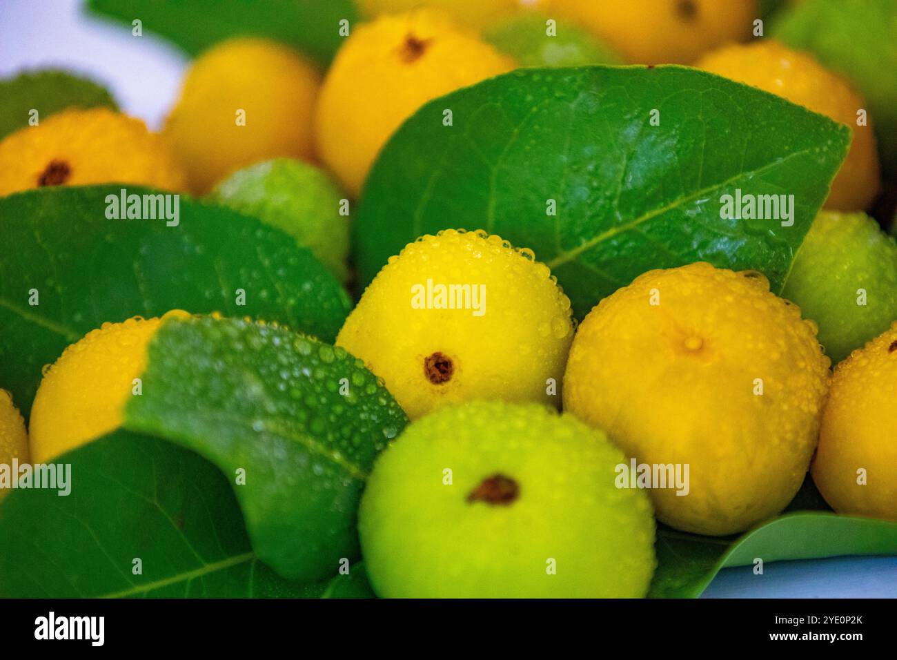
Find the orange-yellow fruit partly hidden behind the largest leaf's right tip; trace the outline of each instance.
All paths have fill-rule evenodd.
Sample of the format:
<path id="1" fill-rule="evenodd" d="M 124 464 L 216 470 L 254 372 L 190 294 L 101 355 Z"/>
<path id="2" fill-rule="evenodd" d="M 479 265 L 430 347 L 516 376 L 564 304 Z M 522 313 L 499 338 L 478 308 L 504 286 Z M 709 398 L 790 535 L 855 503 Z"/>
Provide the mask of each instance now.
<path id="1" fill-rule="evenodd" d="M 774 40 L 720 48 L 695 66 L 778 94 L 846 124 L 853 142 L 825 207 L 857 211 L 869 206 L 879 184 L 875 135 L 871 122 L 857 126 L 857 111 L 867 107 L 866 101 L 840 75 L 823 68 L 812 56 Z"/>

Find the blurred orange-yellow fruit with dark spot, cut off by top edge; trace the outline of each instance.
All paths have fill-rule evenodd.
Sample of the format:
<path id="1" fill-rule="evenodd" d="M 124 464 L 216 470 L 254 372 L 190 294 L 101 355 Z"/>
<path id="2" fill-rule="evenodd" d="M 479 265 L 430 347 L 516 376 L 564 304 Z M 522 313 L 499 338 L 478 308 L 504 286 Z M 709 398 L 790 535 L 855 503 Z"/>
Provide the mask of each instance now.
<path id="1" fill-rule="evenodd" d="M 747 39 L 759 18 L 753 0 L 542 0 L 539 6 L 579 22 L 631 64 L 689 64 L 705 50 Z"/>

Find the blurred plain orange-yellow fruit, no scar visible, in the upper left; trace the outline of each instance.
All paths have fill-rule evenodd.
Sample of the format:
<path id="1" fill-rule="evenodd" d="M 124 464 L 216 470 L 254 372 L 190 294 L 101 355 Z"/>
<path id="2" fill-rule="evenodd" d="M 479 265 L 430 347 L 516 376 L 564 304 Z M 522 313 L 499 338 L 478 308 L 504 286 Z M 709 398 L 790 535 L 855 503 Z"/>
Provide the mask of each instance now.
<path id="1" fill-rule="evenodd" d="M 190 189 L 277 156 L 309 160 L 318 84 L 314 66 L 273 41 L 227 40 L 198 57 L 165 124 Z"/>

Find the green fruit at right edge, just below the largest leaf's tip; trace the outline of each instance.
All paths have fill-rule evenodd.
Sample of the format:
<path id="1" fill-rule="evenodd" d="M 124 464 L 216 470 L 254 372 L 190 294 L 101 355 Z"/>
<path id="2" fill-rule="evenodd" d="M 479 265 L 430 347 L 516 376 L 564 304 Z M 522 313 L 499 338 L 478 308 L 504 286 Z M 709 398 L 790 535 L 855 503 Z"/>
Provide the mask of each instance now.
<path id="1" fill-rule="evenodd" d="M 839 362 L 897 319 L 897 242 L 864 213 L 823 211 L 782 296 L 816 321 L 819 342 Z"/>

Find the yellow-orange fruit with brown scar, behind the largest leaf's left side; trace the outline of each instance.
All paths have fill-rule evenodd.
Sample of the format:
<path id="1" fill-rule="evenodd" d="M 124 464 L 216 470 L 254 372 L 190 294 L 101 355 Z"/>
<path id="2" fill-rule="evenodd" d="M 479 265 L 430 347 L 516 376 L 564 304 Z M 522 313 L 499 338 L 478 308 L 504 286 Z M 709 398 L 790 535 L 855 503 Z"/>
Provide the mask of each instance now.
<path id="1" fill-rule="evenodd" d="M 380 147 L 414 110 L 512 68 L 513 60 L 443 13 L 421 10 L 361 25 L 321 88 L 318 155 L 357 197 Z"/>

